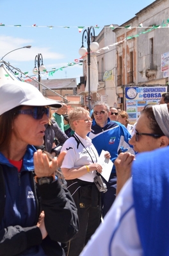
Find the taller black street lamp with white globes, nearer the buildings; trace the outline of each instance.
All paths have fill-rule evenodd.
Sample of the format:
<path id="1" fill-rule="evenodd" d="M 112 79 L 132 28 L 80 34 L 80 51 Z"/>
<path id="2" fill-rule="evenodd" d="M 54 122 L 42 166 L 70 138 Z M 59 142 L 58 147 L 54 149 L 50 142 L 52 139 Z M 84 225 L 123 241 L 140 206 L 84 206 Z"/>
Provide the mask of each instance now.
<path id="1" fill-rule="evenodd" d="M 92 32 L 91 32 L 92 31 Z M 84 38 L 85 37 L 85 38 Z M 93 42 L 92 42 L 93 38 Z M 86 49 L 83 43 L 87 42 L 88 48 Z M 91 44 L 90 44 L 91 41 Z M 90 50 L 97 51 L 99 49 L 99 44 L 95 42 L 95 30 L 93 26 L 88 27 L 87 30 L 83 31 L 82 35 L 82 46 L 79 49 L 79 55 L 84 56 L 88 54 L 88 107 L 91 110 L 91 92 L 90 92 Z"/>

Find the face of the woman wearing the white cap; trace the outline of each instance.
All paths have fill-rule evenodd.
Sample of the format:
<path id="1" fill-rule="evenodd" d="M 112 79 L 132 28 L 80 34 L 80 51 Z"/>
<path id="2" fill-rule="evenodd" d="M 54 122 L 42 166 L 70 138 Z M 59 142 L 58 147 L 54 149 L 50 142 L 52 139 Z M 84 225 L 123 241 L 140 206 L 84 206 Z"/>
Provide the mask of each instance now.
<path id="1" fill-rule="evenodd" d="M 24 106 L 24 109 L 32 109 L 33 107 Z M 13 122 L 12 139 L 19 145 L 35 145 L 40 146 L 44 143 L 45 124 L 49 121 L 47 114 L 42 119 L 34 119 L 29 114 L 18 114 Z"/>

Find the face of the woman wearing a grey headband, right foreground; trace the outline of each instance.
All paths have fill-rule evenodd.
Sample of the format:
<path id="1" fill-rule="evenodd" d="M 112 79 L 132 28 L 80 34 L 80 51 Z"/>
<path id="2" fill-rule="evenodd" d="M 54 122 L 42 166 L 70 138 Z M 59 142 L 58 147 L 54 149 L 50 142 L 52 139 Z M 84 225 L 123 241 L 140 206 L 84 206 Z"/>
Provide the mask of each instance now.
<path id="1" fill-rule="evenodd" d="M 136 132 L 138 133 L 154 133 L 149 128 L 150 119 L 146 114 L 141 114 L 136 124 Z M 133 145 L 134 151 L 145 152 L 152 151 L 159 148 L 160 138 L 154 138 L 149 135 L 138 135 L 138 141 L 136 141 L 136 134 L 130 139 L 129 144 Z"/>

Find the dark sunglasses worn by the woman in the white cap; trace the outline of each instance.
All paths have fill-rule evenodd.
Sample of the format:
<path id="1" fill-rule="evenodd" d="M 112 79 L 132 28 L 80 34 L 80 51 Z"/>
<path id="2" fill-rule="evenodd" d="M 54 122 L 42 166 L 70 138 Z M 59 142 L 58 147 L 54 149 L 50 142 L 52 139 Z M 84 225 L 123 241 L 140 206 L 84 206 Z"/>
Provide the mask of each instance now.
<path id="1" fill-rule="evenodd" d="M 34 119 L 42 119 L 44 114 L 49 117 L 49 107 L 33 107 L 31 109 L 21 109 L 15 114 L 32 115 Z"/>

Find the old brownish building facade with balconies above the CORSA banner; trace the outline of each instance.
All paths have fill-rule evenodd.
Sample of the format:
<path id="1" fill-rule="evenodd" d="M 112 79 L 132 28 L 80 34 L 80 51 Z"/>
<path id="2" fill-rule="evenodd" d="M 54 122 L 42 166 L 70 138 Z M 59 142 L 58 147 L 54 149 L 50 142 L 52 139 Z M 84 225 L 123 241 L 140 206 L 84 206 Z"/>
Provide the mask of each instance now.
<path id="1" fill-rule="evenodd" d="M 118 42 L 118 107 L 125 109 L 126 85 L 156 87 L 168 84 L 168 17 L 169 1 L 156 0 L 136 13 L 133 19 L 113 30 Z"/>

